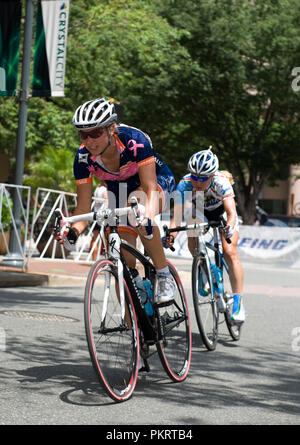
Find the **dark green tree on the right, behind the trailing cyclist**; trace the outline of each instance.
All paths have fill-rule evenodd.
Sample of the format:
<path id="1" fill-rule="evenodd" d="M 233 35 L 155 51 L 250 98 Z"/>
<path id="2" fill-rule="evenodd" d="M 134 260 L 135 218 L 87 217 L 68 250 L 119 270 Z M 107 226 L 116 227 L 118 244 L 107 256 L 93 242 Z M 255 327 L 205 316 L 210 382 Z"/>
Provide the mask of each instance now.
<path id="1" fill-rule="evenodd" d="M 292 13 L 291 13 L 292 12 Z M 266 181 L 300 161 L 296 0 L 167 1 L 162 14 L 189 31 L 182 44 L 197 74 L 182 85 L 191 143 L 212 143 L 237 182 L 239 211 L 252 223 Z M 185 98 L 185 100 L 184 100 Z"/>

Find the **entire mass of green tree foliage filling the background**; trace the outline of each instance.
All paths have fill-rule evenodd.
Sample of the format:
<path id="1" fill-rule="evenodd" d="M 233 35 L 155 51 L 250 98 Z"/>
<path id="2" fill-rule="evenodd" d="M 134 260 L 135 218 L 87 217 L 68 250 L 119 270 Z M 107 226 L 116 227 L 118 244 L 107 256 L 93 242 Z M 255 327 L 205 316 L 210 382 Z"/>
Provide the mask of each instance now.
<path id="1" fill-rule="evenodd" d="M 29 101 L 27 183 L 74 191 L 73 112 L 114 97 L 177 180 L 212 144 L 251 222 L 263 184 L 300 162 L 299 21 L 298 0 L 71 2 L 66 97 Z M 0 105 L 0 146 L 13 158 L 18 103 Z"/>

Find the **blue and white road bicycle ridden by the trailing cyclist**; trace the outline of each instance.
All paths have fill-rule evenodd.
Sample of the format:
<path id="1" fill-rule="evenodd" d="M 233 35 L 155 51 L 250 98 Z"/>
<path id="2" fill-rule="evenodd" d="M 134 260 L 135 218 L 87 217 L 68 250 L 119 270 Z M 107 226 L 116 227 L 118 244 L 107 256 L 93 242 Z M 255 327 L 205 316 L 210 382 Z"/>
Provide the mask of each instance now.
<path id="1" fill-rule="evenodd" d="M 224 314 L 231 338 L 237 341 L 241 335 L 241 325 L 231 320 L 233 296 L 219 235 L 219 230 L 225 225 L 224 218 L 221 218 L 219 221 L 185 225 L 173 229 L 163 227 L 166 237 L 172 232 L 199 231 L 198 247 L 192 264 L 193 304 L 202 341 L 209 351 L 213 351 L 218 342 L 220 313 Z M 212 244 L 204 237 L 210 228 L 213 230 Z M 226 241 L 231 242 L 230 239 Z M 209 251 L 213 254 L 210 255 Z"/>

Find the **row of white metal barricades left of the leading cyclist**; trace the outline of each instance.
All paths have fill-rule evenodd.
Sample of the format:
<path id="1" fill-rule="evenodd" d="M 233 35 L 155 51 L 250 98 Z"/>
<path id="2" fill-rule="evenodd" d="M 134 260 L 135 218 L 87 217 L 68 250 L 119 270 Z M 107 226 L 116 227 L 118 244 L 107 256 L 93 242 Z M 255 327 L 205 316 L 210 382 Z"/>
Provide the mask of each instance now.
<path id="1" fill-rule="evenodd" d="M 20 230 L 18 231 L 18 224 L 13 213 L 14 190 L 17 197 L 15 199 L 18 199 L 21 207 L 21 233 Z M 92 248 L 90 247 L 96 221 L 88 224 L 76 243 L 76 251 L 72 253 L 66 251 L 52 234 L 55 209 L 59 208 L 64 215 L 70 216 L 76 204 L 77 195 L 75 193 L 39 187 L 35 195 L 31 196 L 30 187 L 0 184 L 0 238 L 2 238 L 3 245 L 1 251 L 0 239 L 0 255 L 9 256 L 12 253 L 9 248 L 9 232 L 14 231 L 18 250 L 24 259 L 24 268 L 27 268 L 31 258 L 92 263 L 94 261 L 93 253 L 96 249 L 96 258 L 98 259 L 101 256 L 103 228 L 100 233 L 97 233 Z M 95 198 L 93 197 L 92 208 L 94 204 Z"/>

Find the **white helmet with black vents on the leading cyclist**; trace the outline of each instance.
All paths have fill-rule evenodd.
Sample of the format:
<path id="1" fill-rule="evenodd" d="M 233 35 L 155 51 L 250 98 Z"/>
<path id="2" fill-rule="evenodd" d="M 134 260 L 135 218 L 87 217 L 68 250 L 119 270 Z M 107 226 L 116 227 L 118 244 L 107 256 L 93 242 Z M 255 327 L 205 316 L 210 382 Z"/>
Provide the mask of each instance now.
<path id="1" fill-rule="evenodd" d="M 116 121 L 114 104 L 104 98 L 85 102 L 77 108 L 73 116 L 73 124 L 78 130 L 108 127 Z"/>

